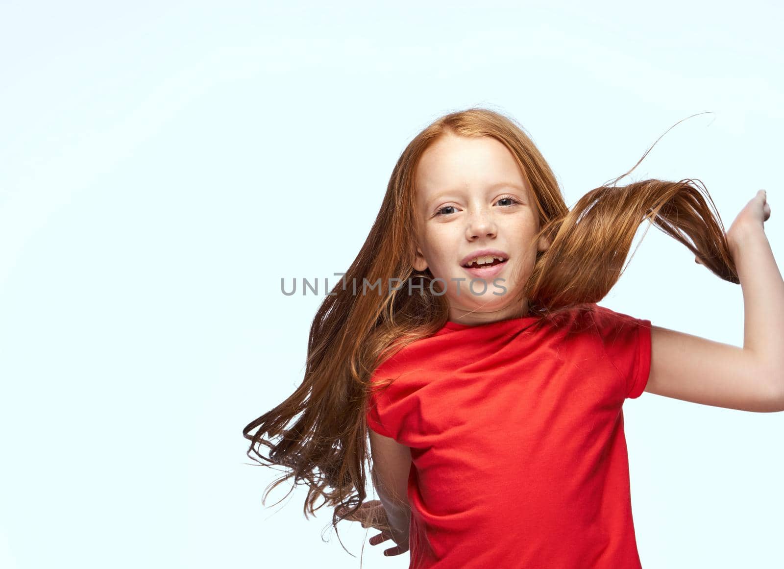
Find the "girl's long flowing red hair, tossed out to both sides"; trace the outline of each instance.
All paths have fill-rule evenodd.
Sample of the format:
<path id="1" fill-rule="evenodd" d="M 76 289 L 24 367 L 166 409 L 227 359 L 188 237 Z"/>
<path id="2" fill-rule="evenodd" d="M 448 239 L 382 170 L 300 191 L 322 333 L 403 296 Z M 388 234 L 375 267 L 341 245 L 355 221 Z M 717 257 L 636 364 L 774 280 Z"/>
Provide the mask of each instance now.
<path id="1" fill-rule="evenodd" d="M 445 297 L 430 292 L 430 270 L 419 272 L 412 266 L 416 167 L 423 152 L 447 133 L 491 136 L 503 143 L 532 188 L 541 226 L 534 242 L 544 235 L 550 247 L 538 253 L 515 300 L 528 299 L 528 314 L 539 315 L 537 322 L 604 298 L 618 281 L 644 219 L 681 241 L 718 277 L 739 283 L 724 227 L 699 180 L 645 179 L 615 185 L 650 148 L 632 170 L 590 190 L 570 210 L 550 166 L 514 119 L 483 108 L 446 114 L 419 132 L 397 160 L 365 244 L 344 282 L 325 295 L 310 326 L 303 382 L 242 431 L 252 441 L 249 457 L 260 462 L 252 456 L 255 453 L 268 463 L 264 466 L 286 470 L 267 487 L 263 502 L 274 487 L 293 478 L 294 484 L 309 487 L 306 517 L 331 506 L 336 527 L 365 501 L 370 375 L 384 358 L 436 332 L 448 318 Z M 363 283 L 369 286 L 379 279 L 383 286 L 378 292 L 354 294 L 354 283 L 361 291 Z M 416 294 L 408 294 L 408 286 L 390 292 L 390 282 L 411 283 Z M 269 449 L 267 456 L 260 452 L 261 445 Z M 315 506 L 318 498 L 324 502 Z M 340 506 L 348 510 L 343 516 L 337 512 Z"/>

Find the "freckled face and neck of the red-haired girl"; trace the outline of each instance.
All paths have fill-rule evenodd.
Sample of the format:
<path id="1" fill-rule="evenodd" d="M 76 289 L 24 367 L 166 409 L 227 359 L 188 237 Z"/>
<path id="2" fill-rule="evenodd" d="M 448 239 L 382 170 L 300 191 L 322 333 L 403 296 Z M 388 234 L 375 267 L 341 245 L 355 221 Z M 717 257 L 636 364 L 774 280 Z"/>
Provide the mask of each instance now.
<path id="1" fill-rule="evenodd" d="M 513 304 L 514 293 L 547 244 L 542 238 L 525 248 L 539 231 L 539 216 L 511 152 L 489 136 L 446 135 L 422 155 L 415 182 L 414 268 L 429 267 L 443 279 L 449 320 L 482 324 L 523 315 L 528 301 Z M 465 266 L 485 249 L 504 260 Z"/>

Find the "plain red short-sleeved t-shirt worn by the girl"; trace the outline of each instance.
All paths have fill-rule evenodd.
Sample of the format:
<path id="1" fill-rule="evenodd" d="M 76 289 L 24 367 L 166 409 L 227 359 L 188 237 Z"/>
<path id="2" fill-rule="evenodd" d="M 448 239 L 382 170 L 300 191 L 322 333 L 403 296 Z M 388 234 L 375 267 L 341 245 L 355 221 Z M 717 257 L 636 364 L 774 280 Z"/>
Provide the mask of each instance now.
<path id="1" fill-rule="evenodd" d="M 591 303 L 447 322 L 371 377 L 368 426 L 411 448 L 409 567 L 641 567 L 622 404 L 640 397 L 651 321 Z"/>

